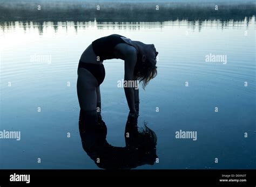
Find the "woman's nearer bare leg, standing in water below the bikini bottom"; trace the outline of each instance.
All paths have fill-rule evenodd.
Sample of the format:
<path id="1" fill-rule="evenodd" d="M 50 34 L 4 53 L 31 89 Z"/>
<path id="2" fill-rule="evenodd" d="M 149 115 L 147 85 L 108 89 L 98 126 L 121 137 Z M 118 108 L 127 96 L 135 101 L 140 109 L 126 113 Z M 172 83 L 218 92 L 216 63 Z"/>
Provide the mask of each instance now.
<path id="1" fill-rule="evenodd" d="M 77 96 L 80 109 L 84 111 L 96 110 L 97 107 L 97 79 L 84 68 L 78 69 Z"/>

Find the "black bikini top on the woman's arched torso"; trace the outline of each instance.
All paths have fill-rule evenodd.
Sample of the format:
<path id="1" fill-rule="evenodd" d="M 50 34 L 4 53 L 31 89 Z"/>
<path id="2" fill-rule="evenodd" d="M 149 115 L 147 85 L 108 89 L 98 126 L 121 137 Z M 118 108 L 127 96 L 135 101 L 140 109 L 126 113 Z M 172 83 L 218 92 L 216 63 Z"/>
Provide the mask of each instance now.
<path id="1" fill-rule="evenodd" d="M 127 44 L 120 37 L 123 37 L 123 36 L 119 34 L 111 34 L 107 37 L 102 37 L 92 42 L 93 51 L 95 52 L 96 56 L 99 56 L 100 61 L 116 58 L 114 56 L 114 47 L 120 43 Z"/>

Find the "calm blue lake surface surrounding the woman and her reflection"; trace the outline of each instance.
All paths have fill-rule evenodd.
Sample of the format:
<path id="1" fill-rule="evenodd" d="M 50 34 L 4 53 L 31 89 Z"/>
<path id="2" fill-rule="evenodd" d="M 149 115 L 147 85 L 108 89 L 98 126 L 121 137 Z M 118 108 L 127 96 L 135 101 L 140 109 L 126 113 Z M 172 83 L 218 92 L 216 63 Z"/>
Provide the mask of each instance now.
<path id="1" fill-rule="evenodd" d="M 20 141 L 0 141 L 0 168 L 99 168 L 79 135 L 77 66 L 93 40 L 113 33 L 159 52 L 157 77 L 145 91 L 140 85 L 138 117 L 139 127 L 156 133 L 159 163 L 138 169 L 256 167 L 255 2 L 161 1 L 159 11 L 151 1 L 103 3 L 100 11 L 98 2 L 43 1 L 40 11 L 35 2 L 0 5 L 0 131 L 21 131 Z M 124 62 L 104 66 L 106 141 L 125 147 L 129 109 L 117 87 Z M 180 130 L 196 131 L 197 139 L 177 139 Z"/>

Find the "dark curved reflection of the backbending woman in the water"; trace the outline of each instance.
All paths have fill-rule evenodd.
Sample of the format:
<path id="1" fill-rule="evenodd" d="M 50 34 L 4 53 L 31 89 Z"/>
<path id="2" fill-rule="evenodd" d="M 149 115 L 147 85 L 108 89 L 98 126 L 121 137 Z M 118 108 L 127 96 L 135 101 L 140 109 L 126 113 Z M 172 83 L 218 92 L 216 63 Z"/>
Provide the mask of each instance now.
<path id="1" fill-rule="evenodd" d="M 98 122 L 95 118 L 98 115 Z M 138 131 L 138 115 L 129 114 L 125 126 L 125 147 L 114 147 L 106 141 L 107 128 L 100 114 L 80 110 L 79 132 L 82 145 L 99 168 L 131 169 L 144 164 L 153 165 L 157 159 L 157 136 L 145 126 Z"/>

